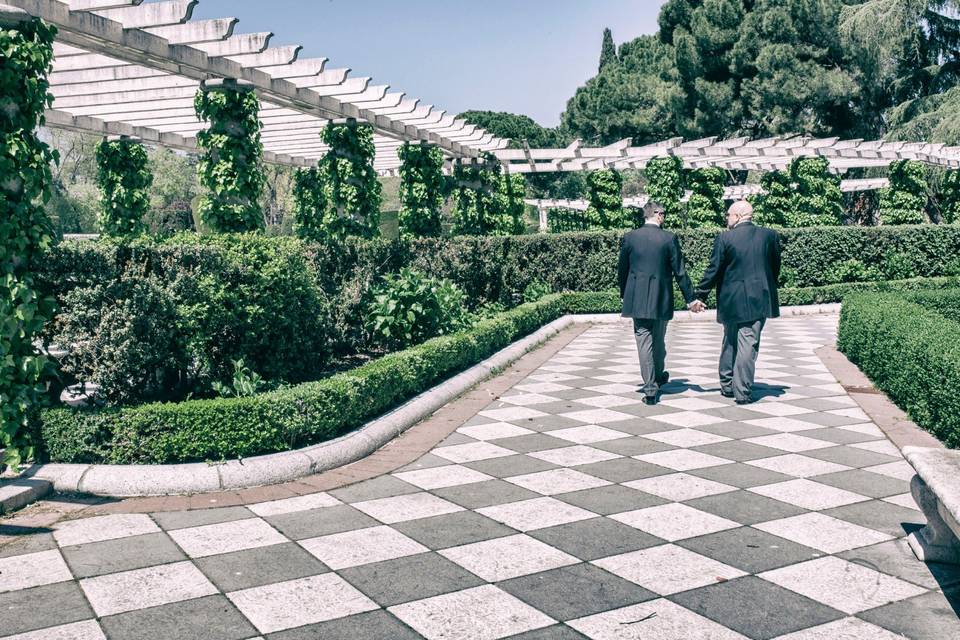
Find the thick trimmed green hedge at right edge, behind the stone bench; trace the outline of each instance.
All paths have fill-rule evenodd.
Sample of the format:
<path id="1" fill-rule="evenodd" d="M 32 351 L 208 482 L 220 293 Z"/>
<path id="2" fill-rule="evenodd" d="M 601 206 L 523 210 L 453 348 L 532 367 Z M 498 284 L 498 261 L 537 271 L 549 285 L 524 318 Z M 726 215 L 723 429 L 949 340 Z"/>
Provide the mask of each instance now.
<path id="1" fill-rule="evenodd" d="M 960 446 L 957 310 L 960 290 L 851 296 L 838 339 L 878 388 L 952 448 Z"/>

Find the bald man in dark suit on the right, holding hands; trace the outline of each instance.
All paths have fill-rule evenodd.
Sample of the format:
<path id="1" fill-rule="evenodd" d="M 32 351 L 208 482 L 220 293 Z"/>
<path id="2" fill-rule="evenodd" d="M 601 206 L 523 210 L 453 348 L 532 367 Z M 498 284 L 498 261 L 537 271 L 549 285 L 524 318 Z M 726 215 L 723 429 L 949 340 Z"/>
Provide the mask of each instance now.
<path id="1" fill-rule="evenodd" d="M 706 300 L 710 289 L 717 288 L 717 322 L 723 325 L 720 392 L 737 404 L 749 404 L 760 332 L 767 318 L 780 317 L 780 238 L 753 224 L 753 207 L 746 200 L 727 211 L 727 227 L 713 243 L 697 297 Z"/>

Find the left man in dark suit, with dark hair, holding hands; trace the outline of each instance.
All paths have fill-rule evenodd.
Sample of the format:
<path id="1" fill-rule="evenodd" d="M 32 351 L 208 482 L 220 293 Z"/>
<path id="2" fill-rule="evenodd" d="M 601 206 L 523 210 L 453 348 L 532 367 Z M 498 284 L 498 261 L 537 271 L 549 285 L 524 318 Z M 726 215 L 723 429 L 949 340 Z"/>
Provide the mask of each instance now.
<path id="1" fill-rule="evenodd" d="M 663 206 L 651 201 L 643 210 L 645 224 L 623 238 L 617 277 L 623 300 L 623 317 L 633 318 L 633 331 L 640 355 L 640 376 L 647 404 L 656 404 L 661 385 L 670 374 L 664 371 L 667 322 L 673 318 L 673 281 L 676 280 L 690 309 L 701 310 L 683 264 L 677 236 L 664 231 Z"/>

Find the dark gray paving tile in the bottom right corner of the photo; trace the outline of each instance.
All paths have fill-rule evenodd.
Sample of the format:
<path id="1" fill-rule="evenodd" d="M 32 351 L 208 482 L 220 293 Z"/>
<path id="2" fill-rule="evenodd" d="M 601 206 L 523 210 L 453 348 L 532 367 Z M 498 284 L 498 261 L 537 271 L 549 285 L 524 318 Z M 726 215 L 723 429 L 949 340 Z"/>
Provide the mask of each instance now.
<path id="1" fill-rule="evenodd" d="M 960 638 L 960 589 L 895 602 L 857 614 L 867 622 L 902 634 L 911 640 Z"/>

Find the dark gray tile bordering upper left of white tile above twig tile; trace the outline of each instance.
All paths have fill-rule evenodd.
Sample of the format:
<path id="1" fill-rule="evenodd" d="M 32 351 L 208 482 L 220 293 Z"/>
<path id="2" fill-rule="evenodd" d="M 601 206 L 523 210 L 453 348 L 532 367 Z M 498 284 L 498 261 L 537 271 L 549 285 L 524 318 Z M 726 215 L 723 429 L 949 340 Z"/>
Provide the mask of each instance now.
<path id="1" fill-rule="evenodd" d="M 588 561 L 663 544 L 656 536 L 609 518 L 571 522 L 527 535 Z"/>

